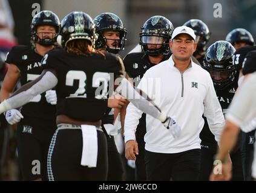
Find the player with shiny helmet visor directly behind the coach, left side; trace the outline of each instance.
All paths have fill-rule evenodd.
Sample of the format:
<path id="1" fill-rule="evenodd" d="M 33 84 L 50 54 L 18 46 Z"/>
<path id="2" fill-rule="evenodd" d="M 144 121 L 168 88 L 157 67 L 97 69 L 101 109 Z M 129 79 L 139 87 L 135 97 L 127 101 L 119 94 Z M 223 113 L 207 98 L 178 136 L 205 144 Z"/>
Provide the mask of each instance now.
<path id="1" fill-rule="evenodd" d="M 171 56 L 169 40 L 174 30 L 172 23 L 163 16 L 150 17 L 142 26 L 140 32 L 140 46 L 142 52 L 131 52 L 123 59 L 125 70 L 130 78 L 133 78 L 135 86 L 145 72 L 154 65 L 163 62 Z M 123 112 L 122 122 L 125 119 Z M 128 117 L 126 117 L 127 119 Z M 139 155 L 136 157 L 136 180 L 146 180 L 145 168 L 145 142 L 146 114 L 143 113 L 136 129 L 136 141 Z"/>

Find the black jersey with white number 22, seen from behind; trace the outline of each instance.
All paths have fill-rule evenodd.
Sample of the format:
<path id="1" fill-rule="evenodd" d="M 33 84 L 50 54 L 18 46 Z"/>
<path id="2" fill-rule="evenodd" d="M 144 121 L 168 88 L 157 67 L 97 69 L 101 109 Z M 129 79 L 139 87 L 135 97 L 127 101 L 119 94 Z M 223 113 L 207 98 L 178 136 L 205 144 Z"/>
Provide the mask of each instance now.
<path id="1" fill-rule="evenodd" d="M 122 74 L 116 55 L 76 55 L 56 49 L 42 59 L 44 69 L 57 74 L 57 115 L 79 121 L 102 119 L 108 106 L 108 93 L 113 93 L 114 79 Z"/>

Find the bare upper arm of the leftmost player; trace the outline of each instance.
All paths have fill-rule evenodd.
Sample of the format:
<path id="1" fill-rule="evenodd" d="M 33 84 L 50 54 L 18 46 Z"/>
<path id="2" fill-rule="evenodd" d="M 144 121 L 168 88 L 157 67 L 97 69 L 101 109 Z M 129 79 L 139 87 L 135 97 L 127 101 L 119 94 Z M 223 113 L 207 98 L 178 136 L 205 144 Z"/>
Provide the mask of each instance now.
<path id="1" fill-rule="evenodd" d="M 8 67 L 7 74 L 2 82 L 2 87 L 0 91 L 1 102 L 9 98 L 16 84 L 18 83 L 19 77 L 21 77 L 19 68 L 16 65 L 10 64 Z"/>

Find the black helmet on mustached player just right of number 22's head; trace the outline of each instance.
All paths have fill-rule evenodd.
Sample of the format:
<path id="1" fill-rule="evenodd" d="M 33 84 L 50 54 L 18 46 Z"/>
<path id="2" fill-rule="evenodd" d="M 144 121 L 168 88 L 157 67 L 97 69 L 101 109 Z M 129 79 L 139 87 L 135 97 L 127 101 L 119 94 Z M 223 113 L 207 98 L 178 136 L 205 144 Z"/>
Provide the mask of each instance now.
<path id="1" fill-rule="evenodd" d="M 125 48 L 125 37 L 127 30 L 123 27 L 122 20 L 114 13 L 102 13 L 96 16 L 94 19 L 94 24 L 96 25 L 96 33 L 99 36 L 96 41 L 96 48 L 104 48 L 107 45 L 107 39 L 103 36 L 104 31 L 119 31 L 118 46 L 116 48 L 110 48 L 107 45 L 106 50 L 108 52 L 117 54 L 120 50 Z M 116 39 L 108 39 L 116 40 Z"/>

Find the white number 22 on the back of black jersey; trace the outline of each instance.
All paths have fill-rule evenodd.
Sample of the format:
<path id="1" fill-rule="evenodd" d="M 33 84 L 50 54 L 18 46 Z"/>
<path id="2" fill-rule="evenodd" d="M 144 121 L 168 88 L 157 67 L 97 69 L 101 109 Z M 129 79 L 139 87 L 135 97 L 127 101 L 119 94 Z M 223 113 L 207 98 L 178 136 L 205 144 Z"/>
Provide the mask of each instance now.
<path id="1" fill-rule="evenodd" d="M 79 86 L 76 92 L 70 94 L 67 98 L 72 98 L 72 97 L 87 97 L 87 94 L 85 93 L 86 90 L 86 80 L 87 80 L 87 75 L 85 74 L 84 71 L 68 71 L 66 75 L 66 85 L 67 86 L 73 86 L 74 80 L 79 80 Z M 98 92 L 98 89 L 96 89 L 96 96 L 95 98 L 97 99 L 102 99 L 104 96 L 107 95 L 108 93 L 108 81 L 110 81 L 110 74 L 107 72 L 95 72 L 93 74 L 93 87 L 99 88 L 100 83 L 103 83 L 103 88 L 99 88 L 99 90 L 102 91 Z"/>

